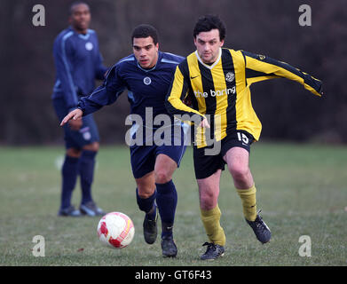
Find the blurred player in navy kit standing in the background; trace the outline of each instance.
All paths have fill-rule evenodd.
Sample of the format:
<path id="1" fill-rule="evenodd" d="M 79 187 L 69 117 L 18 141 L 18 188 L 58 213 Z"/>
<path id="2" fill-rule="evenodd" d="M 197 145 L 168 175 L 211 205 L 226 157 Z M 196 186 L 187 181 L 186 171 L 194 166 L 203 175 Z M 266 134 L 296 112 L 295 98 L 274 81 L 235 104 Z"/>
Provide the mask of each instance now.
<path id="1" fill-rule="evenodd" d="M 57 36 L 53 55 L 56 82 L 52 101 L 59 121 L 75 109 L 80 96 L 94 90 L 95 79 L 102 80 L 106 67 L 102 65 L 96 33 L 89 29 L 91 12 L 83 2 L 70 7 L 70 27 Z M 66 156 L 62 167 L 62 193 L 59 216 L 103 215 L 91 197 L 95 156 L 99 150 L 99 132 L 92 115 L 71 121 L 64 127 Z M 80 209 L 71 205 L 77 177 L 81 177 L 82 201 Z"/>

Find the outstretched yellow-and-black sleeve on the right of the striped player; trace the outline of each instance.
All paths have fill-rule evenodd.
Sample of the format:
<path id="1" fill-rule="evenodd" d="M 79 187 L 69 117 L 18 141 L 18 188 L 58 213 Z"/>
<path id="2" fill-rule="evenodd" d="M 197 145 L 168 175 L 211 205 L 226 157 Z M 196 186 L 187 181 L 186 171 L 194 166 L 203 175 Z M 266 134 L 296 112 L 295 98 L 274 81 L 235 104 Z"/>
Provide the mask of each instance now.
<path id="1" fill-rule="evenodd" d="M 314 95 L 320 97 L 323 94 L 320 80 L 296 67 L 290 66 L 286 62 L 247 51 L 242 51 L 242 54 L 246 62 L 248 85 L 273 78 L 287 78 L 302 84 L 306 90 L 311 91 Z"/>

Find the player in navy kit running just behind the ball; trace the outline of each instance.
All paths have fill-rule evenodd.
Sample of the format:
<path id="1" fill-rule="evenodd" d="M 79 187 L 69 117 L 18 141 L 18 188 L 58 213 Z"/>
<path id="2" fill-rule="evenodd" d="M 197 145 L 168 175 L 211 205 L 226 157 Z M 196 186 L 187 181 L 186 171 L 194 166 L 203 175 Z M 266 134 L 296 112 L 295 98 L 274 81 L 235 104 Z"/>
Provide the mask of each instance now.
<path id="1" fill-rule="evenodd" d="M 131 40 L 133 54 L 110 68 L 105 83 L 93 91 L 91 96 L 82 98 L 79 108 L 67 114 L 61 125 L 71 120 L 78 121 L 83 115 L 114 103 L 122 91 L 128 89 L 131 114 L 138 114 L 142 118 L 142 125 L 133 124 L 132 129 L 138 129 L 135 136 L 146 133 L 146 143 L 143 146 L 130 146 L 131 168 L 137 183 L 138 207 L 146 212 L 145 240 L 150 244 L 156 240 L 158 207 L 162 219 L 162 255 L 176 256 L 177 247 L 173 241 L 172 227 L 177 207 L 177 191 L 172 182 L 172 175 L 185 153 L 185 127 L 181 122 L 175 125 L 172 117 L 171 127 L 179 127 L 179 146 L 172 145 L 174 135 L 170 137 L 171 145 L 157 146 L 152 134 L 160 126 L 153 127 L 153 132 L 148 135 L 146 111 L 150 109 L 154 117 L 158 114 L 168 114 L 164 106 L 165 96 L 175 69 L 183 58 L 159 51 L 157 31 L 150 25 L 135 28 Z M 150 139 L 154 142 L 153 146 L 148 146 L 151 144 L 147 143 Z"/>

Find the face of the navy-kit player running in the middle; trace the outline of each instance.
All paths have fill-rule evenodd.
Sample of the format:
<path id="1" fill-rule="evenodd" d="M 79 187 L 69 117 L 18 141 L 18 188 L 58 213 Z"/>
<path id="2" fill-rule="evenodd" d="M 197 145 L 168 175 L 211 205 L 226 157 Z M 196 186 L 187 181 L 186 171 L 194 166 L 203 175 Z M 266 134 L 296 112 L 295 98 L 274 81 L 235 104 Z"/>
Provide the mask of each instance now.
<path id="1" fill-rule="evenodd" d="M 132 49 L 138 64 L 143 68 L 152 68 L 158 60 L 159 43 L 154 44 L 152 36 L 134 37 Z"/>

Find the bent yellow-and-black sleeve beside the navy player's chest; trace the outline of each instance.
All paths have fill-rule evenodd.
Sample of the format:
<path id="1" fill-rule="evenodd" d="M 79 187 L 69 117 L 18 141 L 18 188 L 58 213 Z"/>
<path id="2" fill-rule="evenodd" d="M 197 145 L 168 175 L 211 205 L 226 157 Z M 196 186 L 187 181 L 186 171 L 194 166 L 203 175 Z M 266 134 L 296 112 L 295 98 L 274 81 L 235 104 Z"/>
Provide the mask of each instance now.
<path id="1" fill-rule="evenodd" d="M 200 116 L 200 119 L 204 119 L 205 116 L 199 113 L 192 107 L 186 106 L 183 99 L 189 94 L 189 74 L 185 74 L 184 65 L 186 60 L 176 67 L 173 81 L 170 84 L 169 92 L 165 99 L 165 106 L 169 114 L 174 115 L 180 120 L 193 121 L 196 115 Z M 184 118 L 183 115 L 185 116 Z"/>

